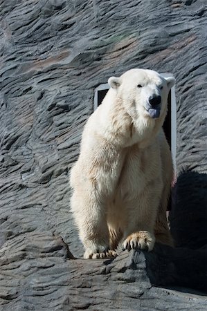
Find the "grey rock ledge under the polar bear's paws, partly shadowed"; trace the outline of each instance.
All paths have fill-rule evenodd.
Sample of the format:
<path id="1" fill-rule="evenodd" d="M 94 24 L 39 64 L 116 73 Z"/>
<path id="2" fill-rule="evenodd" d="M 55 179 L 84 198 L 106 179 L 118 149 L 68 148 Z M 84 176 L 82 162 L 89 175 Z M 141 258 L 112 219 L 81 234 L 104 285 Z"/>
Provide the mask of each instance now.
<path id="1" fill-rule="evenodd" d="M 13 251 L 15 249 L 15 252 Z M 206 310 L 207 249 L 74 258 L 60 236 L 22 234 L 0 251 L 1 310 Z"/>

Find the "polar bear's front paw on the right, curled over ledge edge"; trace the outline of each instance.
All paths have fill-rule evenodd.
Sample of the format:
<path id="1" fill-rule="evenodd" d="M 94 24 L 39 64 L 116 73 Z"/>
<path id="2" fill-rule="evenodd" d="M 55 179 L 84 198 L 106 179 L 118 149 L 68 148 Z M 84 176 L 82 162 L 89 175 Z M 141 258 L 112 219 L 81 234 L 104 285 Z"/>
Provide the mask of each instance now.
<path id="1" fill-rule="evenodd" d="M 123 242 L 123 250 L 125 249 L 147 249 L 149 252 L 153 249 L 155 243 L 154 234 L 148 231 L 139 231 L 130 234 Z"/>

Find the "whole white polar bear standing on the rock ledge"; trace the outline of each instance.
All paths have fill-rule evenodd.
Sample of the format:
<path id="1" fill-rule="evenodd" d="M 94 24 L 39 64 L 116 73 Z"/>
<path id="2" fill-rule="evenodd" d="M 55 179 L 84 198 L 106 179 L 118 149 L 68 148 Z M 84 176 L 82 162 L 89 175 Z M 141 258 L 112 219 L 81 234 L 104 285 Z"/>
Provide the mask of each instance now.
<path id="1" fill-rule="evenodd" d="M 120 241 L 128 250 L 172 244 L 166 220 L 172 158 L 162 125 L 174 77 L 132 69 L 108 83 L 71 169 L 71 211 L 84 258 L 116 256 Z"/>

